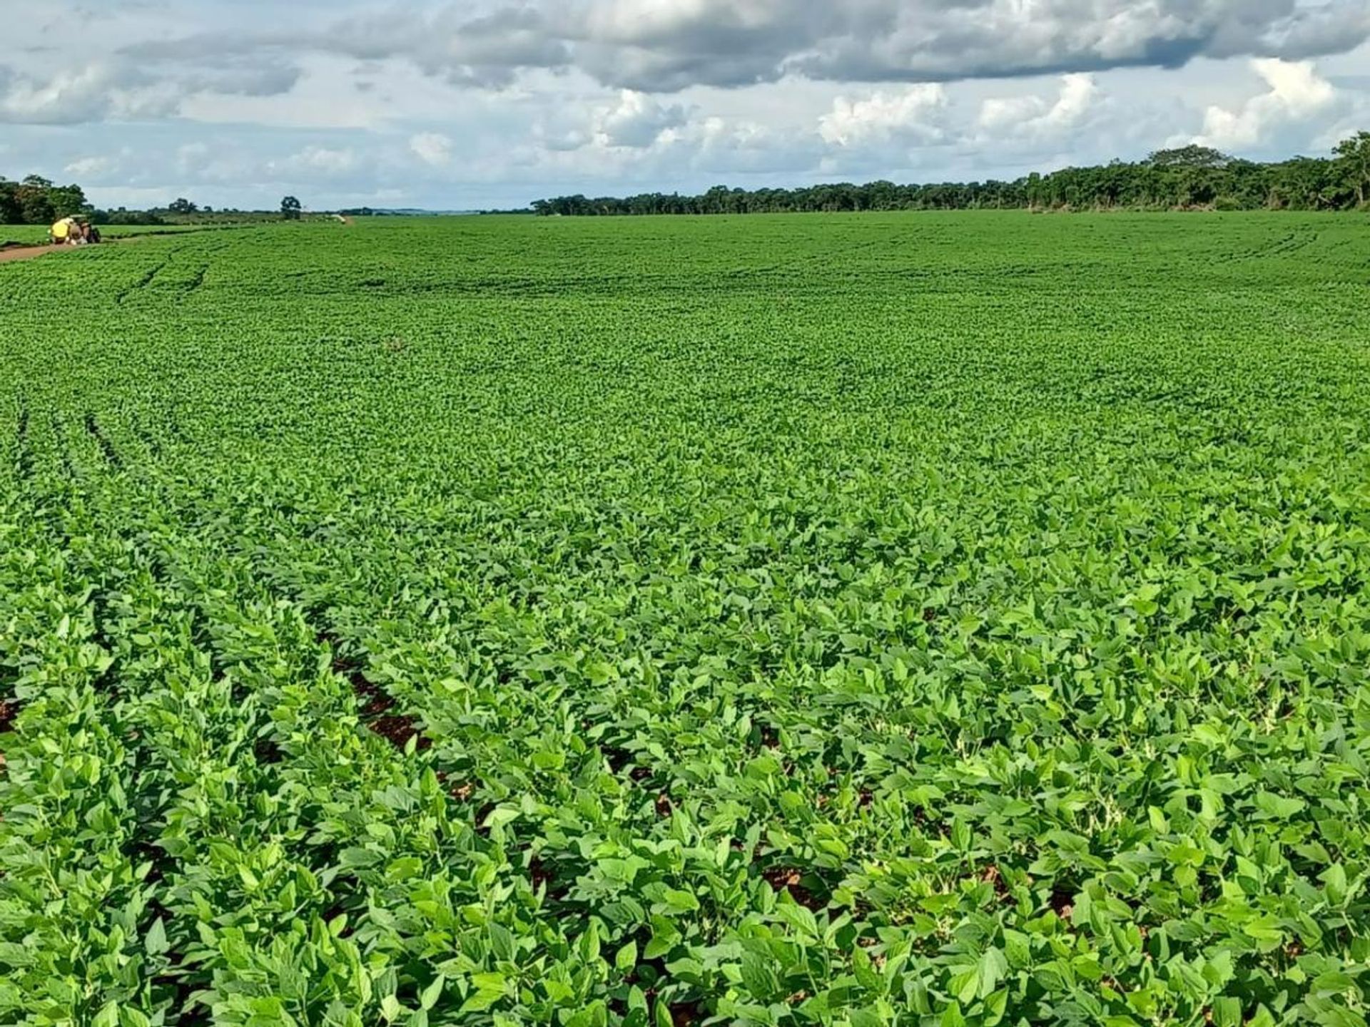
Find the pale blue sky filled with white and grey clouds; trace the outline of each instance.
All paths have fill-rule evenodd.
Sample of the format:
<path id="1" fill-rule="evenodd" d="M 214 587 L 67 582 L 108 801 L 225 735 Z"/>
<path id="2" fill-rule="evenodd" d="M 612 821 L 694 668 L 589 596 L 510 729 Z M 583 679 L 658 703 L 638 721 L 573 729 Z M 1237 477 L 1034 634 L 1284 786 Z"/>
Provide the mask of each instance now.
<path id="1" fill-rule="evenodd" d="M 1370 127 L 1367 0 L 0 0 L 0 174 L 101 205 L 1012 178 Z"/>

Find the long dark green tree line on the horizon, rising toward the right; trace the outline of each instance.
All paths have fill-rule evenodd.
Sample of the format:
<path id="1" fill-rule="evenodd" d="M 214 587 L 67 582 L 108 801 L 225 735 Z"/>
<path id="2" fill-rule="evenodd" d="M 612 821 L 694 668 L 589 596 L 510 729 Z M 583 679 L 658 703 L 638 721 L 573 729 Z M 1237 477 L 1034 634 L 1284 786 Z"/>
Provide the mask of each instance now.
<path id="1" fill-rule="evenodd" d="M 1345 211 L 1370 203 L 1370 131 L 1340 142 L 1330 157 L 1241 160 L 1210 147 L 1159 149 L 1145 160 L 1033 173 L 1011 182 L 729 189 L 699 196 L 559 196 L 536 200 L 538 215 L 763 214 L 904 210 L 1296 210 Z"/>

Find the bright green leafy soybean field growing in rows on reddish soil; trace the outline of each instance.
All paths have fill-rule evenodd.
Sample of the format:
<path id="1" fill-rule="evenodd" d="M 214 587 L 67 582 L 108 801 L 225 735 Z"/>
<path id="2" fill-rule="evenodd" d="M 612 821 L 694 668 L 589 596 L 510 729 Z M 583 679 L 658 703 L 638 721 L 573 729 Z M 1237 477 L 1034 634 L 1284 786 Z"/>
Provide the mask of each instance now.
<path id="1" fill-rule="evenodd" d="M 0 1023 L 1352 1027 L 1370 222 L 0 267 Z"/>

